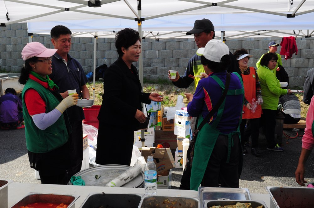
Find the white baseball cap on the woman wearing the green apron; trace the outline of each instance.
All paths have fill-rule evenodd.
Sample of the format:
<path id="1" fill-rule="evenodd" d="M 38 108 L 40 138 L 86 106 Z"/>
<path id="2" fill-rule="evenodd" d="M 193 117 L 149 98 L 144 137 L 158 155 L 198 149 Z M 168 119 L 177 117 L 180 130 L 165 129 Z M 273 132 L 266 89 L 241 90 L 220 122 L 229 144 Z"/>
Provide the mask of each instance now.
<path id="1" fill-rule="evenodd" d="M 206 59 L 214 62 L 220 62 L 221 57 L 229 55 L 229 48 L 221 40 L 212 39 L 208 41 L 205 48 L 199 48 L 196 54 L 203 55 Z"/>

